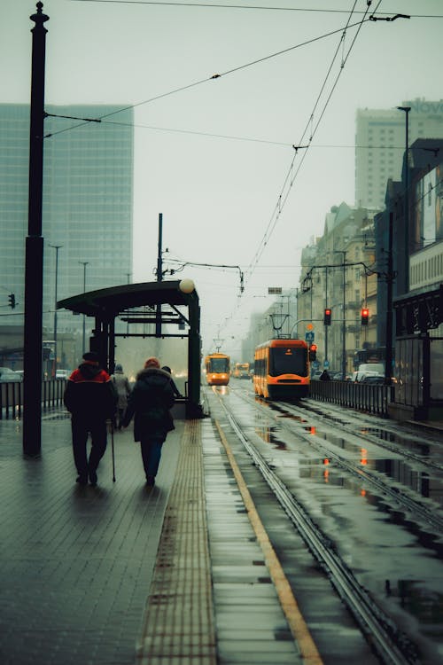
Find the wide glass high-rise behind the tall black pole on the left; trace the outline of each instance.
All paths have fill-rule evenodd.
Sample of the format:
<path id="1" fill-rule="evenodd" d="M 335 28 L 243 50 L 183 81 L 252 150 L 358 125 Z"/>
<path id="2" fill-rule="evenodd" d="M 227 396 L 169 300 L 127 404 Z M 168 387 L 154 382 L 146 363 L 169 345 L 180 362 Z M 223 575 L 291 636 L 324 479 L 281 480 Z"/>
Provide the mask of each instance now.
<path id="1" fill-rule="evenodd" d="M 43 327 L 52 330 L 58 300 L 125 284 L 132 272 L 133 111 L 120 106 L 51 106 L 43 144 Z M 84 120 L 83 120 L 84 119 Z M 99 120 L 101 121 L 88 121 Z M 29 106 L 0 104 L 0 284 L 3 325 L 24 308 Z M 54 247 L 59 246 L 56 250 Z M 56 254 L 58 270 L 56 275 Z M 1 293 L 1 292 L 0 292 Z M 58 331 L 82 327 L 58 313 Z"/>

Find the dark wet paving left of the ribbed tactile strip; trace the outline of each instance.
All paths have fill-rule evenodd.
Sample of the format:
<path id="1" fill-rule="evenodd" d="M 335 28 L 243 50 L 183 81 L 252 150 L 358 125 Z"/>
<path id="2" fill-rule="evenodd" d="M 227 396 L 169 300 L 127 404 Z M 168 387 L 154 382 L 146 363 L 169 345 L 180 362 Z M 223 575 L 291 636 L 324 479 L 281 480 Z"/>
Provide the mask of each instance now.
<path id="1" fill-rule="evenodd" d="M 134 662 L 181 431 L 147 491 L 132 432 L 115 434 L 115 483 L 107 450 L 97 488 L 81 488 L 69 419 L 43 418 L 38 459 L 23 458 L 19 421 L 0 423 L 3 665 Z"/>

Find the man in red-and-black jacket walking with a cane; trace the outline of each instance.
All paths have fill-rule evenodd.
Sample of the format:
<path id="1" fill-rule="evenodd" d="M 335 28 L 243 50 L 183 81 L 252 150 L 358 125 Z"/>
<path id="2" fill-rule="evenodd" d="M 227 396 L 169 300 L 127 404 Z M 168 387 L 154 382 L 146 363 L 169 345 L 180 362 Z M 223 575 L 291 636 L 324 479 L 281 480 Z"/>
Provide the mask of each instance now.
<path id="1" fill-rule="evenodd" d="M 117 394 L 111 377 L 98 364 L 93 351 L 83 354 L 83 362 L 66 382 L 63 396 L 66 409 L 71 413 L 74 464 L 77 482 L 97 485 L 97 467 L 105 455 L 107 436 L 106 420 L 113 419 Z M 87 443 L 91 436 L 89 458 Z"/>

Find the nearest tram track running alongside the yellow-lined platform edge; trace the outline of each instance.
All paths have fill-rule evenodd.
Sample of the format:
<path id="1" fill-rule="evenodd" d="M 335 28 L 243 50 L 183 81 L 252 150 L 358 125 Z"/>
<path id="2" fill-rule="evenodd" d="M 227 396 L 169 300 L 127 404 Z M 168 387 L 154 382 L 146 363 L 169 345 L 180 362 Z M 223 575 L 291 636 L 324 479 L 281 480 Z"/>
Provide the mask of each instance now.
<path id="1" fill-rule="evenodd" d="M 268 483 L 268 487 L 276 496 L 310 552 L 328 575 L 330 583 L 354 616 L 361 633 L 374 653 L 377 654 L 380 662 L 391 663 L 392 665 L 405 665 L 405 663 L 416 665 L 419 662 L 416 655 L 416 645 L 398 629 L 392 619 L 377 606 L 369 592 L 355 579 L 354 573 L 341 559 L 330 538 L 325 536 L 323 531 L 317 527 L 303 505 L 299 504 L 284 482 L 268 465 L 266 459 L 245 436 L 237 419 L 220 397 L 219 403 L 237 439 L 252 458 L 253 464 L 260 470 L 264 480 Z"/>

